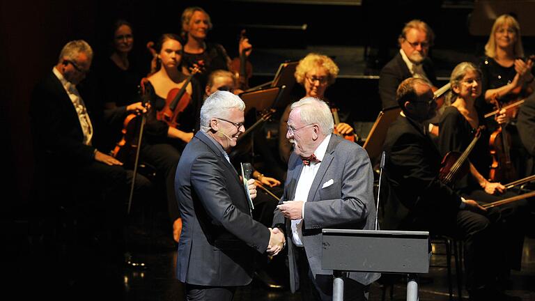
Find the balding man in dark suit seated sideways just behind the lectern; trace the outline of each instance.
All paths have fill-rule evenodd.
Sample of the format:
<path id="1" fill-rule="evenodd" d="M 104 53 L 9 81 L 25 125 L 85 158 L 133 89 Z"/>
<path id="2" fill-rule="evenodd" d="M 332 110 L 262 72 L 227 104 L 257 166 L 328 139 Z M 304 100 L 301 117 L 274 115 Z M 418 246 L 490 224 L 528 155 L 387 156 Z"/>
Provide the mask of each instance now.
<path id="1" fill-rule="evenodd" d="M 494 232 L 495 222 L 476 201 L 463 199 L 437 177 L 442 156 L 425 126 L 436 114 L 431 86 L 424 79 L 405 79 L 396 98 L 402 114 L 385 139 L 391 193 L 382 228 L 430 231 L 463 240 L 470 300 L 511 300 L 496 282 L 503 260 L 495 250 L 504 241 Z"/>

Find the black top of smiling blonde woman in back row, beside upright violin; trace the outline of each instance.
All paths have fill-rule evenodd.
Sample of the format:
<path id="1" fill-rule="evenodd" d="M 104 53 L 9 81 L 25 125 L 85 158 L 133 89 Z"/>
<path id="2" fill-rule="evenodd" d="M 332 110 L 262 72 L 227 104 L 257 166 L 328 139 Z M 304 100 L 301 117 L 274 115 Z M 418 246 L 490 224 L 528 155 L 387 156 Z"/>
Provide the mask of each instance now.
<path id="1" fill-rule="evenodd" d="M 184 44 L 185 45 L 185 44 Z M 189 70 L 195 65 L 199 67 L 201 73 L 197 73 L 195 78 L 205 87 L 208 82 L 208 75 L 214 70 L 228 70 L 228 65 L 231 59 L 226 54 L 226 50 L 222 45 L 216 43 L 206 43 L 206 48 L 201 54 L 191 54 L 183 52 L 182 65 Z"/>

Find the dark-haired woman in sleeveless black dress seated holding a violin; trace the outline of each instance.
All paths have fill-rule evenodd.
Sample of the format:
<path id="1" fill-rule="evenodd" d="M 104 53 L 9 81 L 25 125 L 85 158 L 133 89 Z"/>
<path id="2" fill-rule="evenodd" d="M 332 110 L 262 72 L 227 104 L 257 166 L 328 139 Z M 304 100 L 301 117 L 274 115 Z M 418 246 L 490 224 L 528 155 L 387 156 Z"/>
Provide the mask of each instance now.
<path id="1" fill-rule="evenodd" d="M 178 36 L 166 33 L 156 45 L 157 59 L 160 68 L 148 77 L 146 93 L 149 93 L 151 109 L 148 112 L 146 134 L 141 148 L 141 157 L 153 164 L 162 174 L 166 183 L 166 199 L 169 216 L 173 222 L 173 238 L 180 238 L 180 213 L 174 192 L 176 165 L 180 152 L 185 144 L 192 139 L 194 131 L 199 128 L 202 88 L 195 79 L 191 79 L 180 98 L 185 106 L 182 111 L 176 110 L 177 125 L 158 117 L 158 112 L 169 106 L 173 101 L 173 93 L 187 82 L 187 76 L 180 70 L 183 46 Z"/>

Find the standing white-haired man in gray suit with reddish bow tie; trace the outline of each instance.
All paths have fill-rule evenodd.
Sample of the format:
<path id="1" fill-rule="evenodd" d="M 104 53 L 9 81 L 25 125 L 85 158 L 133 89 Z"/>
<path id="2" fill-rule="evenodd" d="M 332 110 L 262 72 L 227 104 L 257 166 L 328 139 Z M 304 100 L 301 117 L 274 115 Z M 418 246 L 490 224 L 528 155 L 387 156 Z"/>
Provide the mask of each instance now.
<path id="1" fill-rule="evenodd" d="M 302 300 L 332 300 L 332 270 L 321 268 L 321 230 L 373 229 L 375 222 L 369 157 L 333 128 L 325 102 L 303 98 L 291 106 L 286 138 L 294 151 L 273 224 L 286 233 L 290 289 L 300 288 Z M 379 277 L 351 272 L 344 300 L 367 300 Z"/>

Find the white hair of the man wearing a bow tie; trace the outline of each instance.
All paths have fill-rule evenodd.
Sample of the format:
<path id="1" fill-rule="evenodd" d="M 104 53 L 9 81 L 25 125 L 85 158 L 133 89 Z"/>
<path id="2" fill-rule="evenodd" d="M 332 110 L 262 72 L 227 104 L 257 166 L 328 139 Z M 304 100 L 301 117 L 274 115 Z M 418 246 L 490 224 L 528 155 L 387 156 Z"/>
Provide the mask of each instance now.
<path id="1" fill-rule="evenodd" d="M 318 123 L 323 134 L 331 134 L 334 121 L 329 106 L 318 98 L 306 97 L 294 102 L 290 109 L 300 108 L 301 122 L 304 124 Z"/>

